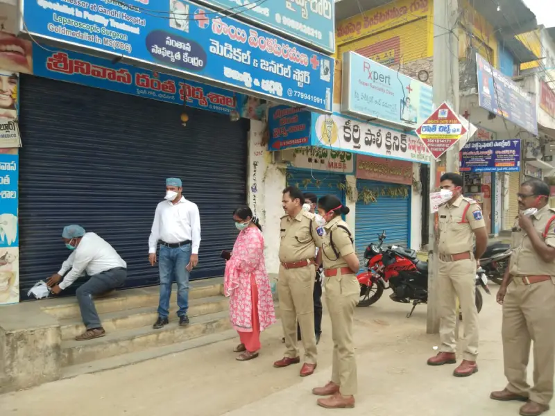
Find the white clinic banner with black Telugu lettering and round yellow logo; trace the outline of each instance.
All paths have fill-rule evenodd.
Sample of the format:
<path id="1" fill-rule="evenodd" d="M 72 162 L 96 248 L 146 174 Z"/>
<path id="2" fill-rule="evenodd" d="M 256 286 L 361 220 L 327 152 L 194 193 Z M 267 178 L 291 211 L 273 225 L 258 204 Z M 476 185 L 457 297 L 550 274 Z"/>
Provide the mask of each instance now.
<path id="1" fill-rule="evenodd" d="M 416 135 L 340 114 L 313 114 L 311 144 L 359 155 L 424 164 L 432 160 L 432 153 Z"/>

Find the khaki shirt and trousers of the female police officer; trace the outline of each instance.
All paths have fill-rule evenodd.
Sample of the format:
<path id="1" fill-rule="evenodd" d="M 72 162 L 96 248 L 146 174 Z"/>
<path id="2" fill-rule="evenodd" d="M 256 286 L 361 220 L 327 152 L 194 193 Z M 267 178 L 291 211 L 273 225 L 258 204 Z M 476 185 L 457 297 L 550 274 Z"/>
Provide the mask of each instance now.
<path id="1" fill-rule="evenodd" d="M 348 268 L 343 257 L 355 252 L 352 241 L 345 229 L 347 223 L 336 217 L 326 224 L 323 237 L 322 260 L 324 270 Z M 332 234 L 333 233 L 333 234 Z M 332 235 L 339 259 L 330 243 Z M 353 272 L 337 270 L 335 276 L 325 277 L 325 301 L 327 311 L 332 320 L 332 340 L 334 341 L 334 355 L 332 367 L 332 381 L 340 386 L 343 396 L 357 393 L 357 363 L 355 361 L 355 345 L 352 342 L 352 321 L 355 307 L 359 302 L 360 285 Z"/>

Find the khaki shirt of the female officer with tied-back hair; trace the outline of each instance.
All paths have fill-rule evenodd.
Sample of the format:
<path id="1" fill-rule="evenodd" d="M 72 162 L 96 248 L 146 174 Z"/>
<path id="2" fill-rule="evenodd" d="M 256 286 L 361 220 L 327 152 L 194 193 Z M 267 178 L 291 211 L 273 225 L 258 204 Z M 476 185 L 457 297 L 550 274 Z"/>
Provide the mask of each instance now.
<path id="1" fill-rule="evenodd" d="M 349 238 L 349 233 L 346 232 L 345 229 L 338 227 L 338 225 L 349 229 L 347 223 L 341 220 L 341 217 L 339 216 L 324 225 L 325 236 L 323 237 L 322 243 L 322 261 L 325 269 L 348 267 L 348 264 L 343 257 L 355 252 L 355 248 Z M 330 236 L 332 236 L 334 241 L 335 250 L 339 253 L 339 259 L 332 248 Z"/>

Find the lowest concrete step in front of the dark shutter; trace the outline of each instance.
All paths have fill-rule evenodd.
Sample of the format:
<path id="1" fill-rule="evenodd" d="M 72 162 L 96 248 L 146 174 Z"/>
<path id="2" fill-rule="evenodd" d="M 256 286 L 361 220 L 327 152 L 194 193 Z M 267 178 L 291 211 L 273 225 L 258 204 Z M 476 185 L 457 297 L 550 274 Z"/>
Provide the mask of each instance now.
<path id="1" fill-rule="evenodd" d="M 150 324 L 145 327 L 107 333 L 103 338 L 89 341 L 64 340 L 62 341 L 62 366 L 69 367 L 153 347 L 182 343 L 231 328 L 229 313 L 223 311 L 191 318 L 191 323 L 185 328 L 174 321 L 162 329 L 153 329 Z"/>

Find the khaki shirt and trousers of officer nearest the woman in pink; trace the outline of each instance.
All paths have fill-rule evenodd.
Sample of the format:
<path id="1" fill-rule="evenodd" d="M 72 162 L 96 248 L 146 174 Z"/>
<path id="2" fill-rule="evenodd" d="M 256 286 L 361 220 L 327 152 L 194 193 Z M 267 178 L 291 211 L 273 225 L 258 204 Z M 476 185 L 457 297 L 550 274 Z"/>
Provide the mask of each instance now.
<path id="1" fill-rule="evenodd" d="M 280 272 L 278 297 L 285 338 L 284 357 L 296 358 L 297 322 L 300 327 L 302 345 L 305 347 L 305 363 L 316 364 L 316 335 L 314 333 L 314 252 L 321 246 L 318 224 L 314 214 L 300 211 L 298 216 L 281 218 Z M 309 261 L 300 268 L 286 268 L 284 263 Z"/>

